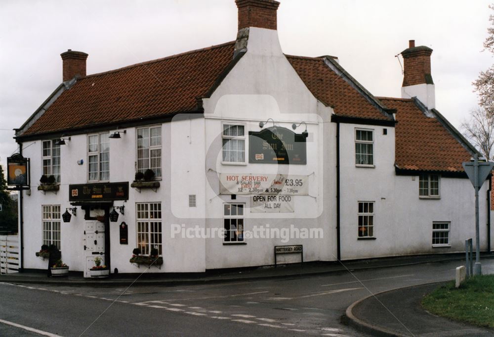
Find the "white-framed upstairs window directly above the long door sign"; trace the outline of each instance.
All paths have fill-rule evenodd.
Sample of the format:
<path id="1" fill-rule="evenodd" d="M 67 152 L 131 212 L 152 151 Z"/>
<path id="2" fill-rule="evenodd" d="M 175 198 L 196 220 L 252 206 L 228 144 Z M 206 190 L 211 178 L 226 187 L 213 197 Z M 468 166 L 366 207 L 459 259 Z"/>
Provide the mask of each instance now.
<path id="1" fill-rule="evenodd" d="M 108 133 L 87 136 L 88 181 L 110 180 L 110 139 Z"/>

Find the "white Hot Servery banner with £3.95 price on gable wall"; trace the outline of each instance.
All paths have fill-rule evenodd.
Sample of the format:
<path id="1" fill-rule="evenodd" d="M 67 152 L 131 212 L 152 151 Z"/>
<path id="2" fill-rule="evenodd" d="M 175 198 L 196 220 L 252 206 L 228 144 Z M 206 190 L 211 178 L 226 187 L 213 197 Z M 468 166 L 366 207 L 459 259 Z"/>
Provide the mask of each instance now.
<path id="1" fill-rule="evenodd" d="M 220 194 L 308 195 L 309 176 L 220 173 Z"/>

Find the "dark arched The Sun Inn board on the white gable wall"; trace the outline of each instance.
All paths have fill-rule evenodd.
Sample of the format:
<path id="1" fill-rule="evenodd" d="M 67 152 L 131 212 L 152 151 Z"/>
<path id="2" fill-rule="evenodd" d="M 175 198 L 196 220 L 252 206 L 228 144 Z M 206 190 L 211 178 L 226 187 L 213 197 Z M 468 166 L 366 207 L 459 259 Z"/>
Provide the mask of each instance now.
<path id="1" fill-rule="evenodd" d="M 249 163 L 307 164 L 306 134 L 287 128 L 271 127 L 249 131 Z"/>

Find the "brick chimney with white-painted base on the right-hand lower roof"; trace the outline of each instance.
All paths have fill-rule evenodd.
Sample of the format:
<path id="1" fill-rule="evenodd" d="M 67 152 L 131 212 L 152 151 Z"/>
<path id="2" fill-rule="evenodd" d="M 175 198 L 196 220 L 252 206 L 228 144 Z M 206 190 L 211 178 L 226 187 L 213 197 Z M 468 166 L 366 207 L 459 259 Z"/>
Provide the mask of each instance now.
<path id="1" fill-rule="evenodd" d="M 409 48 L 403 50 L 402 97 L 417 97 L 428 109 L 435 108 L 434 82 L 431 75 L 432 49 L 415 47 L 415 40 L 409 41 Z"/>

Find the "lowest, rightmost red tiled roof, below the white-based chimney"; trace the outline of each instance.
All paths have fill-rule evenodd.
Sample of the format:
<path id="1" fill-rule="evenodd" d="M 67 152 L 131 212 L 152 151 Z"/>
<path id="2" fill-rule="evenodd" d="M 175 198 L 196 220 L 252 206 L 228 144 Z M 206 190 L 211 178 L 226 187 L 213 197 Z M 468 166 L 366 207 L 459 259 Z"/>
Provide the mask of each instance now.
<path id="1" fill-rule="evenodd" d="M 378 97 L 397 109 L 395 162 L 399 168 L 417 171 L 464 172 L 461 163 L 472 154 L 437 120 L 430 118 L 412 99 Z"/>

